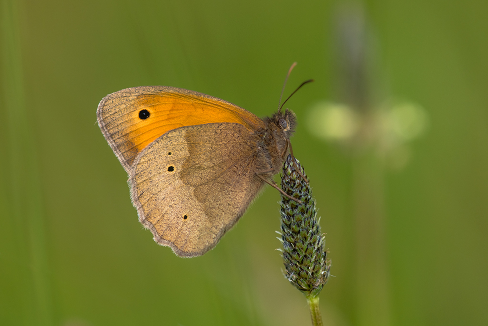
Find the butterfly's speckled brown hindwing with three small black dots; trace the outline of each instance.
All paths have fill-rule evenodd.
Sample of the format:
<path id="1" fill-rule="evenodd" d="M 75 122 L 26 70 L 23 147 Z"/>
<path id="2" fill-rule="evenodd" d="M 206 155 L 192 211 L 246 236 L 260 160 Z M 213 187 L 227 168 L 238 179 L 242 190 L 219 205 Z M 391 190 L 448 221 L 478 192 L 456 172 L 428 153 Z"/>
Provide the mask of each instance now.
<path id="1" fill-rule="evenodd" d="M 137 156 L 132 202 L 155 241 L 185 257 L 218 243 L 263 185 L 255 139 L 240 123 L 185 126 Z"/>

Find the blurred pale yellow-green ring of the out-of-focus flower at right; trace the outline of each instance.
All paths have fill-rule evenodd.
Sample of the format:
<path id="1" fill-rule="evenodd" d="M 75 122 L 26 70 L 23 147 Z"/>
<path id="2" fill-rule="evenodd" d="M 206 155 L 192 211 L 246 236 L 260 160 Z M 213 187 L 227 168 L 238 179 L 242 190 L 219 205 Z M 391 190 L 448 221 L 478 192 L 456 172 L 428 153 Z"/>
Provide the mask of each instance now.
<path id="1" fill-rule="evenodd" d="M 309 131 L 358 150 L 373 146 L 388 166 L 403 169 L 411 157 L 408 143 L 427 130 L 427 111 L 414 102 L 389 101 L 369 112 L 361 115 L 346 104 L 318 102 L 308 115 Z"/>

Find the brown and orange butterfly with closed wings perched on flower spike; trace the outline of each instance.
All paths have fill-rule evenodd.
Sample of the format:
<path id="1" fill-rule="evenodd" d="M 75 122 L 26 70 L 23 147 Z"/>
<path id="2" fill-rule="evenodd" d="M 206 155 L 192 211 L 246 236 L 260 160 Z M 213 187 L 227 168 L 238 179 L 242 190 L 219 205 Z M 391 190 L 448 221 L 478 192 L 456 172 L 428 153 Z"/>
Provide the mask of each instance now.
<path id="1" fill-rule="evenodd" d="M 97 120 L 129 175 L 139 221 L 181 257 L 212 249 L 264 183 L 274 184 L 296 125 L 288 109 L 260 119 L 167 86 L 109 94 Z"/>

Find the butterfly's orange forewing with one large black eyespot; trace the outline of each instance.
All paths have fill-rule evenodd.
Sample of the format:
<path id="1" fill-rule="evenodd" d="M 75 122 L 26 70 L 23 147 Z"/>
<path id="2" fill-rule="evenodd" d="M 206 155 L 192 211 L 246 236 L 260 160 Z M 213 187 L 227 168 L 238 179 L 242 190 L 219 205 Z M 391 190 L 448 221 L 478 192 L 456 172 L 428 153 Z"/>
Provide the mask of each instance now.
<path id="1" fill-rule="evenodd" d="M 237 105 L 166 86 L 133 87 L 107 95 L 97 117 L 127 172 L 135 157 L 169 130 L 214 122 L 241 123 L 249 130 L 264 128 L 261 119 Z"/>

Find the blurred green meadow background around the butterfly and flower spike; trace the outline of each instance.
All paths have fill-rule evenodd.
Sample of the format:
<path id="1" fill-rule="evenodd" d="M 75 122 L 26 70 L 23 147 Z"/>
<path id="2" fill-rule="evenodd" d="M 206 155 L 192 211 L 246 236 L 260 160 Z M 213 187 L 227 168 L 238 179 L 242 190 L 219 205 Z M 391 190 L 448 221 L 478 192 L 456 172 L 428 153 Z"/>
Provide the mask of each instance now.
<path id="1" fill-rule="evenodd" d="M 139 224 L 95 114 L 108 93 L 168 85 L 270 115 L 293 61 L 285 95 L 316 80 L 286 106 L 335 276 L 324 324 L 488 325 L 487 1 L 0 10 L 0 325 L 310 325 L 275 250 L 278 191 L 214 250 L 178 258 Z M 395 102 L 423 127 L 386 147 L 367 136 L 376 122 L 340 141 L 309 123 L 320 103 L 367 118 Z"/>

